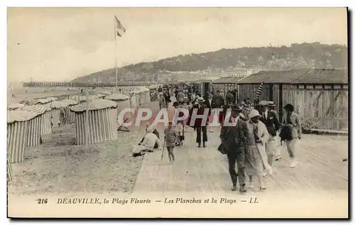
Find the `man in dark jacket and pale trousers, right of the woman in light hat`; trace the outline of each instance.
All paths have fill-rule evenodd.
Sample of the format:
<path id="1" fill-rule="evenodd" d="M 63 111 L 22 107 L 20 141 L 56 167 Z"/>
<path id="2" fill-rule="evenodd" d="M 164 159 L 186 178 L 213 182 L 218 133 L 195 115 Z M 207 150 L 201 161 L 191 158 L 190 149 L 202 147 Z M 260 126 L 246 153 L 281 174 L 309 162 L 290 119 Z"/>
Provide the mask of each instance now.
<path id="1" fill-rule="evenodd" d="M 273 155 L 276 150 L 276 133 L 280 128 L 280 122 L 278 116 L 274 111 L 268 110 L 268 101 L 260 101 L 261 119 L 266 128 L 268 129 L 269 139 L 266 142 L 266 154 L 268 155 L 268 164 L 273 165 Z"/>

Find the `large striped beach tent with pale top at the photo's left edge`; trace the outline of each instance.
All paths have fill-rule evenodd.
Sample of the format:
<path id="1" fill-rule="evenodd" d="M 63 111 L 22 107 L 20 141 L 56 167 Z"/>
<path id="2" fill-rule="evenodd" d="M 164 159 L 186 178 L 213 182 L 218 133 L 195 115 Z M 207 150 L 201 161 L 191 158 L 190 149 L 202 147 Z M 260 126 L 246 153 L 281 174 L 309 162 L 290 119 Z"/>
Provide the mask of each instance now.
<path id="1" fill-rule="evenodd" d="M 23 162 L 28 121 L 37 115 L 34 111 L 7 111 L 7 148 L 10 163 Z"/>

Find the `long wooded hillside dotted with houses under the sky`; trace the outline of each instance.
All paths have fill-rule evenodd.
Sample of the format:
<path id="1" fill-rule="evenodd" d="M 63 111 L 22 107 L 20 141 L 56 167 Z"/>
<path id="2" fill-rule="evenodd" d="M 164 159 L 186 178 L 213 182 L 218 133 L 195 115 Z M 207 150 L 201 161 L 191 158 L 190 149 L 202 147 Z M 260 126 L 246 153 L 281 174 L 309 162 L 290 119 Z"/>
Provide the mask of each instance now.
<path id="1" fill-rule="evenodd" d="M 203 72 L 215 76 L 228 67 L 253 70 L 290 70 L 306 67 L 347 68 L 344 45 L 293 43 L 289 47 L 221 49 L 216 52 L 178 55 L 157 62 L 141 62 L 119 68 L 119 79 L 127 81 L 176 80 L 175 72 Z M 113 82 L 114 68 L 80 77 L 80 82 Z M 169 77 L 169 78 L 167 78 Z"/>

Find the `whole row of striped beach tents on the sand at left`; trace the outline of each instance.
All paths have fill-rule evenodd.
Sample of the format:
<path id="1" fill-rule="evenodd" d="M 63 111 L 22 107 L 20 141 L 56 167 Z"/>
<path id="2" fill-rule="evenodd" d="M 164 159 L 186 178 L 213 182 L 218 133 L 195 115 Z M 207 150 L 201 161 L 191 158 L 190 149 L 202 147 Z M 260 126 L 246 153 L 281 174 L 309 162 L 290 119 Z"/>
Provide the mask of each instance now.
<path id="1" fill-rule="evenodd" d="M 23 162 L 26 147 L 40 145 L 42 137 L 52 133 L 53 127 L 75 123 L 77 145 L 114 141 L 120 126 L 117 120 L 120 111 L 150 101 L 150 89 L 139 87 L 129 90 L 127 95 L 102 91 L 60 101 L 48 97 L 10 104 L 7 107 L 8 180 L 12 178 L 11 163 Z"/>

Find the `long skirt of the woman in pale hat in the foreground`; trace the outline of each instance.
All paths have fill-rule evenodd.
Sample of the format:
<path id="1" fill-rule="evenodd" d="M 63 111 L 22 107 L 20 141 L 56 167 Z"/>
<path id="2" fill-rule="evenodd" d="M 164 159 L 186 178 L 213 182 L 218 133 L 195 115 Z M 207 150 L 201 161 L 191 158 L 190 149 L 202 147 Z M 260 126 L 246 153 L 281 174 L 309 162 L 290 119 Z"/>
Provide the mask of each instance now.
<path id="1" fill-rule="evenodd" d="M 246 146 L 246 175 L 263 176 L 263 160 L 257 146 Z"/>

